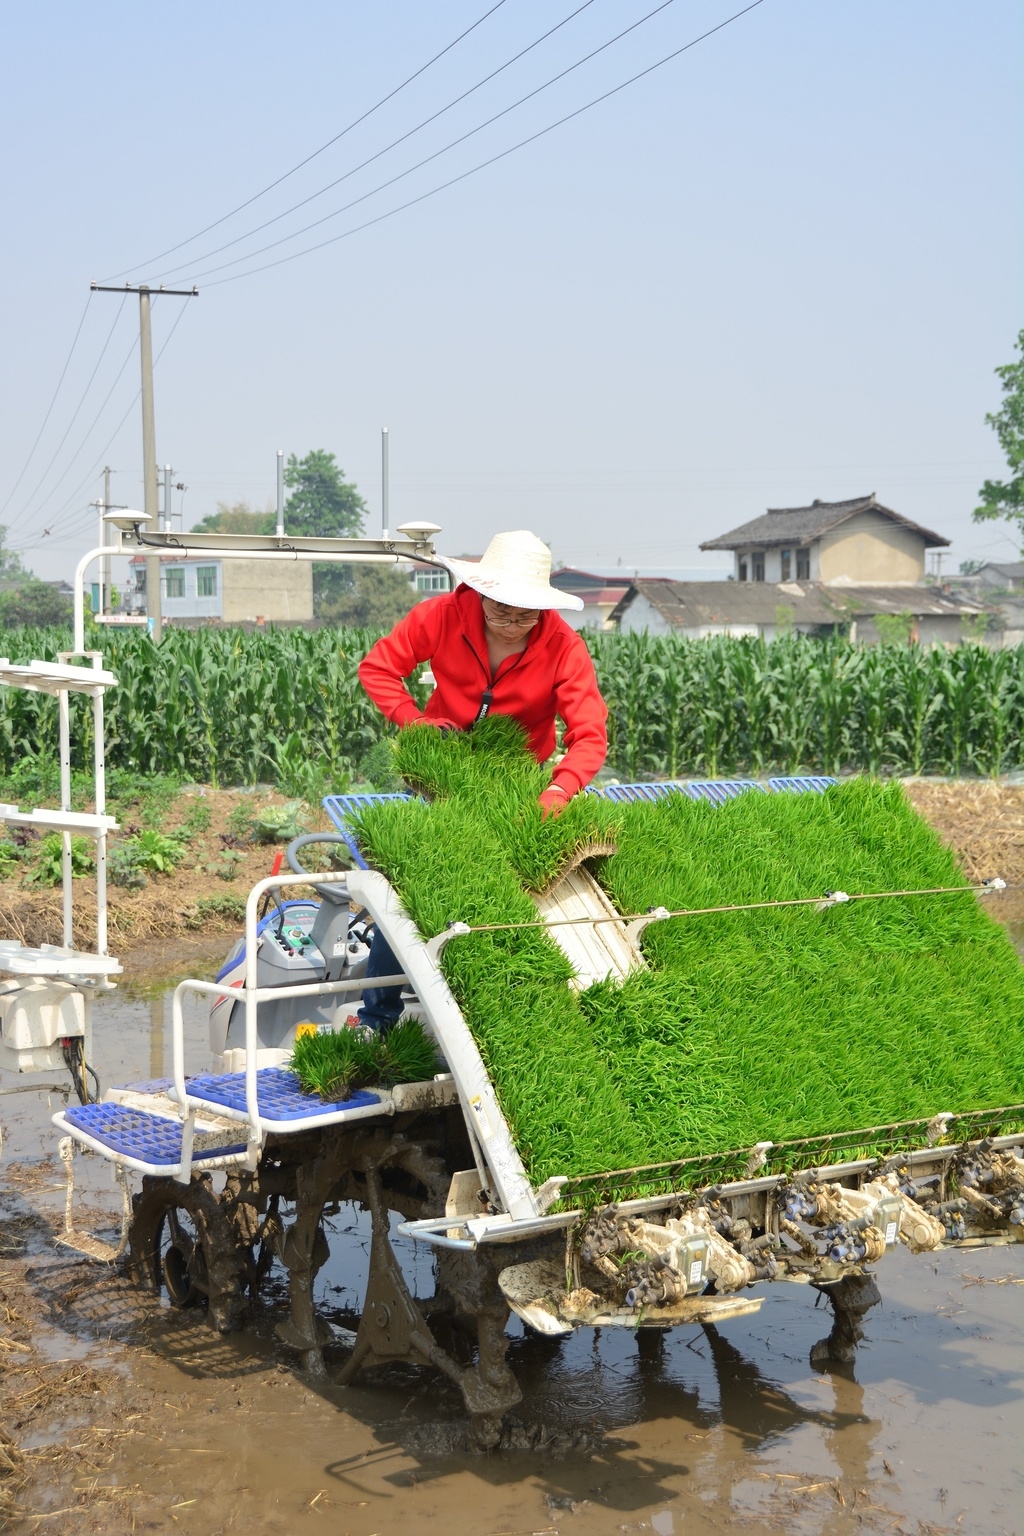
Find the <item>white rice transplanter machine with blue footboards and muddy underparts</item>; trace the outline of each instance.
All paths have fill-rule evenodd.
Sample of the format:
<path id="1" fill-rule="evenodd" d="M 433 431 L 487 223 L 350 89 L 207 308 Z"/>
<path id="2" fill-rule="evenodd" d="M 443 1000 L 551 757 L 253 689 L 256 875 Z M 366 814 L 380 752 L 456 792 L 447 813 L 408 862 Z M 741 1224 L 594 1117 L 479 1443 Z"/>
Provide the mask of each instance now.
<path id="1" fill-rule="evenodd" d="M 388 562 L 430 559 L 434 531 L 418 525 L 399 530 L 404 538 L 395 541 L 292 541 L 149 535 L 137 513 L 114 515 L 114 524 L 121 550 L 201 547 L 244 558 Z M 80 578 L 81 571 L 72 656 L 84 654 Z M 112 829 L 101 799 L 101 697 L 115 679 L 101 673 L 100 657 L 89 660 L 92 667 L 72 657 L 55 664 L 74 677 L 61 673 L 48 685 L 63 682 L 64 693 L 80 687 L 95 700 L 91 829 L 101 869 L 103 837 Z M 68 817 L 75 813 L 61 736 L 61 770 L 64 763 L 61 816 Z M 685 794 L 722 803 L 751 788 L 815 793 L 827 783 L 680 782 L 596 793 L 611 799 Z M 345 1384 L 390 1361 L 433 1367 L 459 1387 L 479 1442 L 494 1444 L 502 1416 L 520 1401 L 505 1358 L 511 1312 L 550 1336 L 594 1326 L 663 1332 L 754 1313 L 763 1301 L 760 1286 L 804 1284 L 827 1295 L 834 1307 L 832 1333 L 817 1346 L 818 1358 L 849 1359 L 863 1313 L 878 1299 L 870 1266 L 897 1243 L 921 1253 L 1024 1235 L 1024 1134 L 1013 1129 L 1022 1106 L 963 1117 L 935 1106 L 929 1121 L 775 1146 L 761 1141 L 656 1167 L 556 1177 L 534 1187 L 439 965 L 445 943 L 457 940 L 465 925 L 454 923 L 433 938 L 419 934 L 384 876 L 365 866 L 353 839 L 348 817 L 364 800 L 325 802 L 356 868 L 304 872 L 302 840 L 296 840 L 289 849 L 292 872 L 250 891 L 244 937 L 218 980 L 177 988 L 172 1077 L 107 1089 L 101 1103 L 80 1103 L 54 1117 L 69 1177 L 72 1150 L 88 1150 L 114 1164 L 126 1195 L 120 1244 L 77 1233 L 71 1218 L 64 1243 L 107 1261 L 126 1253 L 138 1284 L 166 1287 L 177 1306 L 201 1304 L 220 1330 L 244 1322 L 249 1299 L 266 1286 L 276 1261 L 289 1279 L 289 1315 L 276 1332 L 306 1372 L 322 1379 L 330 1372 Z M 20 814 L 6 809 L 8 819 Z M 52 825 L 69 836 L 71 822 Z M 69 940 L 68 854 L 64 874 Z M 582 985 L 643 963 L 640 928 L 657 919 L 657 912 L 640 923 L 622 919 L 585 866 L 537 899 L 537 915 L 567 946 Z M 567 917 L 577 926 L 560 926 Z M 370 925 L 384 932 L 399 963 L 393 977 L 375 977 L 375 985 L 407 988 L 447 1071 L 430 1081 L 322 1101 L 299 1091 L 286 1063 L 302 1026 L 336 1026 L 359 997 Z M 69 963 L 60 980 L 83 997 L 83 1044 L 69 1048 L 72 1066 L 88 1060 L 88 988 L 98 985 L 94 977 L 109 985 L 118 969 L 104 948 L 100 926 L 97 955 L 61 951 L 58 957 Z M 186 1069 L 183 1005 L 189 994 L 209 1005 L 212 1072 L 203 1071 L 206 1061 Z M 58 1049 L 64 1060 L 60 1041 L 75 1037 L 55 1034 L 41 1009 L 20 1037 L 8 1032 L 6 1017 L 5 1051 L 20 1038 L 25 1043 L 17 1049 Z M 48 1028 L 54 1040 L 45 1043 Z M 25 1060 L 25 1068 L 43 1064 L 57 1061 Z M 86 1080 L 83 1066 L 78 1083 Z M 1012 1134 L 1003 1134 L 1004 1123 Z M 141 1190 L 129 1201 L 134 1177 L 141 1178 Z M 344 1201 L 370 1213 L 372 1244 L 358 1332 L 342 1347 L 318 1316 L 315 1279 L 329 1256 L 325 1217 Z M 402 1236 L 433 1253 L 434 1293 L 428 1298 L 411 1293 L 398 1263 L 393 1215 Z"/>

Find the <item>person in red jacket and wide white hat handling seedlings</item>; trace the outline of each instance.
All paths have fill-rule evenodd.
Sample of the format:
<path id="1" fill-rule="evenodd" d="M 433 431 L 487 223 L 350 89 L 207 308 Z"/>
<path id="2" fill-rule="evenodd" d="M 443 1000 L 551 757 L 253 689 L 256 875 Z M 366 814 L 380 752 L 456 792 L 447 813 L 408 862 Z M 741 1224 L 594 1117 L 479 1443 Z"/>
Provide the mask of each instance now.
<path id="1" fill-rule="evenodd" d="M 554 751 L 556 716 L 565 756 L 540 794 L 540 814 L 557 816 L 605 762 L 608 710 L 590 651 L 557 608 L 582 608 L 550 582 L 551 553 L 533 533 L 497 533 L 479 564 L 439 558 L 456 578 L 453 593 L 418 604 L 378 641 L 359 680 L 396 725 L 471 730 L 485 714 L 511 714 L 543 763 Z M 405 687 L 430 662 L 434 691 L 421 711 Z M 375 938 L 367 977 L 395 975 L 398 963 Z M 387 1032 L 401 1014 L 401 988 L 367 988 L 359 1021 Z"/>

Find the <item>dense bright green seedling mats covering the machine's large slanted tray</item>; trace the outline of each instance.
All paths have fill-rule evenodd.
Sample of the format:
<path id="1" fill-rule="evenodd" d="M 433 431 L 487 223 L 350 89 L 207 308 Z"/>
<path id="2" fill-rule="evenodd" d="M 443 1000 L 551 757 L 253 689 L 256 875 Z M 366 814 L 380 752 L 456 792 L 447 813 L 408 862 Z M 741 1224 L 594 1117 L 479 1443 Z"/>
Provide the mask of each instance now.
<path id="1" fill-rule="evenodd" d="M 531 922 L 593 842 L 617 845 L 597 872 L 620 912 L 966 885 L 897 783 L 579 797 L 542 822 L 547 776 L 500 716 L 402 731 L 396 762 L 431 803 L 367 808 L 359 839 L 427 937 Z M 582 994 L 542 929 L 444 949 L 536 1183 L 1024 1100 L 1024 968 L 970 894 L 672 919 L 643 949 Z"/>

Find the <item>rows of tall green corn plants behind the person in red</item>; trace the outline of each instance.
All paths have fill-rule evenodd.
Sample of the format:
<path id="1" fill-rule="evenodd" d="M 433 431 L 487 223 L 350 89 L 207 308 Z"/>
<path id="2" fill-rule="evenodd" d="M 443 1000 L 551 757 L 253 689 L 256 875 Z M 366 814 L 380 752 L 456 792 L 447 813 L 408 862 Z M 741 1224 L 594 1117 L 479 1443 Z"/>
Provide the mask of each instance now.
<path id="1" fill-rule="evenodd" d="M 101 636 L 120 679 L 107 694 L 107 763 L 206 783 L 335 788 L 390 727 L 356 668 L 367 630 L 138 630 Z M 100 642 L 97 642 L 100 644 Z M 843 639 L 596 634 L 620 779 L 766 773 L 999 774 L 1024 768 L 1024 647 L 860 648 Z M 52 659 L 64 630 L 6 630 L 11 660 Z M 92 753 L 91 705 L 75 756 Z M 0 690 L 0 773 L 57 742 L 55 700 Z"/>

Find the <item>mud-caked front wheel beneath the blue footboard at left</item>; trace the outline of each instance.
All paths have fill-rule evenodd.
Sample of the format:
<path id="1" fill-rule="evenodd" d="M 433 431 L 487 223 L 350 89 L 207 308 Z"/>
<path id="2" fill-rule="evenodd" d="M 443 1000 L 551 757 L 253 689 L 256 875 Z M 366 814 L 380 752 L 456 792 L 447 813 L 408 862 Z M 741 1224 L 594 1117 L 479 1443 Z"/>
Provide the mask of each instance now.
<path id="1" fill-rule="evenodd" d="M 239 1327 L 247 1253 L 209 1175 L 190 1184 L 143 1180 L 134 1200 L 129 1273 L 137 1286 L 167 1292 L 175 1307 L 206 1304 L 220 1333 Z"/>

